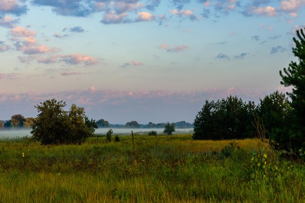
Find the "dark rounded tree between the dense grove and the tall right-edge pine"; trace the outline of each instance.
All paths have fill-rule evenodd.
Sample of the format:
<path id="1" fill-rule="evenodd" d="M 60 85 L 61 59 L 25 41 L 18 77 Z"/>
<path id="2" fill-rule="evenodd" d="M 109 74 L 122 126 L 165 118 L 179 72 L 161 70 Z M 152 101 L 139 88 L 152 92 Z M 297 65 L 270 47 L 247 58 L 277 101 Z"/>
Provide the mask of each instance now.
<path id="1" fill-rule="evenodd" d="M 289 123 L 292 108 L 286 95 L 276 91 L 260 99 L 257 111 L 266 129 L 266 137 L 269 138 L 272 132 Z"/>

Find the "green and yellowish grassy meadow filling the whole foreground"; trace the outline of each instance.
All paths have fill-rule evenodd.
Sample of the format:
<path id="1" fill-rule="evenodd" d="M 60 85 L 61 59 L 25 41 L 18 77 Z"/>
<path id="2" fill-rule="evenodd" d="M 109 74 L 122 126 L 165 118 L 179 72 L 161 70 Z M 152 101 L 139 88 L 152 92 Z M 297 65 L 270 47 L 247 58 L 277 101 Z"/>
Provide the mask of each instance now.
<path id="1" fill-rule="evenodd" d="M 304 203 L 305 167 L 259 139 L 0 141 L 0 203 Z"/>

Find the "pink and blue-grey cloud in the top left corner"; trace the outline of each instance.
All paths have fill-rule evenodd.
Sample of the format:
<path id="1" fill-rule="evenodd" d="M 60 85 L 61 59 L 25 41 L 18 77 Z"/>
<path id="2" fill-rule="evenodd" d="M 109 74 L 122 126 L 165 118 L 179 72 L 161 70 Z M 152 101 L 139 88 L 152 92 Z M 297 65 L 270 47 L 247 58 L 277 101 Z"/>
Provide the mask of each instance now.
<path id="1" fill-rule="evenodd" d="M 20 16 L 26 14 L 28 8 L 26 5 L 19 5 L 17 0 L 0 0 L 0 16 L 5 14 L 13 14 Z"/>

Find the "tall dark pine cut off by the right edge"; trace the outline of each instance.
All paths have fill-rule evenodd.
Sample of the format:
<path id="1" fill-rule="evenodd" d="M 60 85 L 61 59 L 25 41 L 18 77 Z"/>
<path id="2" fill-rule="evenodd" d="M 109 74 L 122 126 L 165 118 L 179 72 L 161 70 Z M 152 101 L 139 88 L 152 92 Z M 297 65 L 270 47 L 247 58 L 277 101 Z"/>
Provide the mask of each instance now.
<path id="1" fill-rule="evenodd" d="M 291 61 L 288 68 L 280 71 L 281 84 L 285 87 L 292 86 L 292 92 L 287 92 L 291 98 L 293 109 L 290 116 L 292 124 L 275 133 L 272 139 L 279 148 L 297 151 L 305 148 L 305 29 L 296 31 L 297 37 L 293 37 L 295 47 L 292 53 L 298 58 L 298 62 Z"/>

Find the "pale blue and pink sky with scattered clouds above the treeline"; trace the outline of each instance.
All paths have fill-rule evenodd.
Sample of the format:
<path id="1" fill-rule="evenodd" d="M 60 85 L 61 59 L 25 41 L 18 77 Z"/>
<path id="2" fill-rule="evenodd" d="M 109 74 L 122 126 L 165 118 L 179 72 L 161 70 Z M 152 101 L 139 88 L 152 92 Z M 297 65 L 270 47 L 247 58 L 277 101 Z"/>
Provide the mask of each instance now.
<path id="1" fill-rule="evenodd" d="M 118 124 L 257 103 L 290 91 L 279 71 L 304 19 L 305 0 L 0 0 L 0 120 L 52 98 Z"/>

